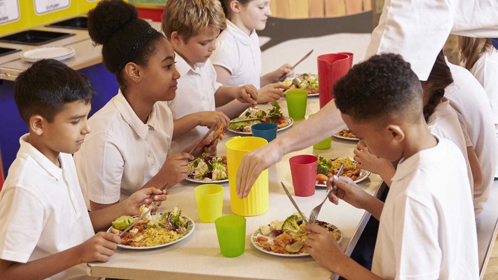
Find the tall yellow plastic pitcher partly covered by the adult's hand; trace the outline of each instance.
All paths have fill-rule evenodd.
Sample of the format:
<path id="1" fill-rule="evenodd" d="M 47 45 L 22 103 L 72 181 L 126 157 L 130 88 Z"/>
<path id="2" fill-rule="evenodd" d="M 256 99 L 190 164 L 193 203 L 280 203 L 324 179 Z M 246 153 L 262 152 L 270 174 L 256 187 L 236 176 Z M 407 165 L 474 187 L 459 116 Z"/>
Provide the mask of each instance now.
<path id="1" fill-rule="evenodd" d="M 228 181 L 230 185 L 230 204 L 232 212 L 241 216 L 257 216 L 268 211 L 268 169 L 264 169 L 252 185 L 248 197 L 239 198 L 236 192 L 237 170 L 242 156 L 255 150 L 268 141 L 259 137 L 234 137 L 227 141 Z"/>

